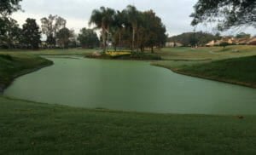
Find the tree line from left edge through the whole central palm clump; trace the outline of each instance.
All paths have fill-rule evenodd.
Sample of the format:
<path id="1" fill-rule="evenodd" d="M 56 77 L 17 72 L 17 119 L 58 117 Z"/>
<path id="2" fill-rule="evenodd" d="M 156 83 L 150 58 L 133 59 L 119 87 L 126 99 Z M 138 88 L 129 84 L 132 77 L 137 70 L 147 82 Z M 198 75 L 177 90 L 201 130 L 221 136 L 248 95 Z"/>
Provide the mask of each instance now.
<path id="1" fill-rule="evenodd" d="M 41 29 L 35 19 L 28 18 L 20 27 L 11 14 L 20 9 L 21 0 L 1 1 L 0 47 L 5 49 L 68 48 L 82 46 L 95 48 L 101 45 L 106 51 L 112 43 L 114 49 L 144 51 L 162 47 L 166 43 L 166 27 L 153 10 L 139 11 L 128 5 L 119 11 L 101 7 L 94 9 L 90 16 L 93 29 L 82 28 L 79 35 L 67 28 L 67 20 L 58 15 L 41 19 Z M 96 29 L 101 30 L 98 38 Z M 46 37 L 41 42 L 41 37 Z M 101 43 L 100 43 L 101 41 Z"/>

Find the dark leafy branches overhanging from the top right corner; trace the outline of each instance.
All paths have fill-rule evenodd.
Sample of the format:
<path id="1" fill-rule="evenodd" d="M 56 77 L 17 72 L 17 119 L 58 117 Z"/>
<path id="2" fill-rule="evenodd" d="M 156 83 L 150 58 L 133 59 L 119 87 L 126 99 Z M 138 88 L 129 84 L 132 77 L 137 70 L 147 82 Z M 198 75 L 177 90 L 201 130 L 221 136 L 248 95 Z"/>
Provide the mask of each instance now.
<path id="1" fill-rule="evenodd" d="M 194 6 L 195 12 L 192 25 L 202 22 L 218 22 L 219 30 L 233 26 L 256 27 L 255 0 L 198 0 Z"/>

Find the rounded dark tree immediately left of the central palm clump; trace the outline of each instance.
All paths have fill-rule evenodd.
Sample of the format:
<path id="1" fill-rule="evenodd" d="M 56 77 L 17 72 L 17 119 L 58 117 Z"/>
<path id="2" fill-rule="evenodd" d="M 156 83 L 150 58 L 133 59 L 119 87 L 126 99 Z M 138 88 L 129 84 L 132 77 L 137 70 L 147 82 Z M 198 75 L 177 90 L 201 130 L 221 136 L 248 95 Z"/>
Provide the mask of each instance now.
<path id="1" fill-rule="evenodd" d="M 83 28 L 80 30 L 78 40 L 83 48 L 93 49 L 99 45 L 96 32 L 92 29 Z"/>

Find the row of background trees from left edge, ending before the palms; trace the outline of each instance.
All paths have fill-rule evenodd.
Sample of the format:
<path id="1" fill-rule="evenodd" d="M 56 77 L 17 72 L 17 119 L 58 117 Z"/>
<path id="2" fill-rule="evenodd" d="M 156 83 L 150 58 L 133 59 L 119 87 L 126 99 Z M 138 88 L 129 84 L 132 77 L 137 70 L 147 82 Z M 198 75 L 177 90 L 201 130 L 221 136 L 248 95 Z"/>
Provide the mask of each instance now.
<path id="1" fill-rule="evenodd" d="M 66 27 L 67 21 L 58 15 L 49 15 L 41 19 L 41 27 L 35 19 L 26 19 L 20 28 L 17 21 L 10 18 L 4 21 L 0 35 L 2 49 L 39 49 L 39 48 L 95 48 L 99 46 L 99 39 L 91 29 L 83 28 L 79 36 Z M 46 41 L 42 42 L 42 34 Z"/>

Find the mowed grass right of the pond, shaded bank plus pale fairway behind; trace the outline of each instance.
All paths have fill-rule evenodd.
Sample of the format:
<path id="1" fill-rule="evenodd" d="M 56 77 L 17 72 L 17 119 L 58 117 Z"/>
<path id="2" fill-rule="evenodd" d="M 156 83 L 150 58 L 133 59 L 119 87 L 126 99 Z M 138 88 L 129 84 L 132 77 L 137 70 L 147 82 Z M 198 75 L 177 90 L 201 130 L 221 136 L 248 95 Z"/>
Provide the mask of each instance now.
<path id="1" fill-rule="evenodd" d="M 256 46 L 168 48 L 158 51 L 164 60 L 152 65 L 198 78 L 256 88 Z"/>

